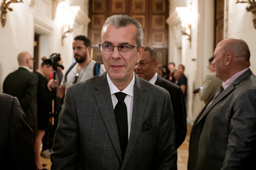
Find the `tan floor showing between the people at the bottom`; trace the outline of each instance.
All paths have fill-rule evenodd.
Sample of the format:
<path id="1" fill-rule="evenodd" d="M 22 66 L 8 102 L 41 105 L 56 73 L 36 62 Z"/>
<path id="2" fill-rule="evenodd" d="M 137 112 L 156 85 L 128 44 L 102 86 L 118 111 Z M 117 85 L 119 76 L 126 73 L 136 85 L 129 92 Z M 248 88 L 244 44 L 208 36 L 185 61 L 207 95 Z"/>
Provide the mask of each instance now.
<path id="1" fill-rule="evenodd" d="M 177 161 L 178 170 L 187 170 L 188 145 L 189 145 L 190 132 L 191 132 L 191 127 L 188 126 L 187 137 L 186 137 L 185 141 L 182 143 L 182 145 L 177 150 L 177 153 L 178 153 L 178 161 Z M 42 159 L 42 163 L 47 165 L 44 168 L 50 170 L 50 167 L 52 165 L 50 159 L 46 159 L 46 158 L 43 158 L 43 157 L 41 157 L 41 159 Z"/>

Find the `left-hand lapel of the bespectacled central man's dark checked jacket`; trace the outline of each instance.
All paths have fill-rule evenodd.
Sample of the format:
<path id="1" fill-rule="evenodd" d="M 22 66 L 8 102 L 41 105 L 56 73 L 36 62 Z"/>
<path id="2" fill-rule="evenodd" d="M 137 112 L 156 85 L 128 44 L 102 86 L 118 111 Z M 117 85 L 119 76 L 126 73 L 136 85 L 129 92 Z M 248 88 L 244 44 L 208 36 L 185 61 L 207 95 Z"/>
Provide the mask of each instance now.
<path id="1" fill-rule="evenodd" d="M 106 78 L 106 73 L 103 74 L 101 78 L 97 79 L 97 82 L 95 82 L 95 88 L 99 90 L 94 94 L 95 100 L 99 107 L 99 112 L 101 113 L 106 129 L 109 133 L 110 139 L 117 152 L 117 155 L 119 159 L 122 160 L 122 152 L 120 147 L 116 118 L 114 115 L 114 109 L 108 81 Z"/>

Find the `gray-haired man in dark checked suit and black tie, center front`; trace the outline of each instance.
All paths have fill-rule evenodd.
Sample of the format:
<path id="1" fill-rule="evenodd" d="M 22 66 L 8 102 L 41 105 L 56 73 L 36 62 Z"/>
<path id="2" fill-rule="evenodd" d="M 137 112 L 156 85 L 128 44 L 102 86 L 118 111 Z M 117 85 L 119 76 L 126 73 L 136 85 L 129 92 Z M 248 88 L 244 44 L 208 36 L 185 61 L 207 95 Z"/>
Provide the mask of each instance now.
<path id="1" fill-rule="evenodd" d="M 127 15 L 110 16 L 101 38 L 106 72 L 67 88 L 50 156 L 52 169 L 175 169 L 169 93 L 133 72 L 144 51 L 141 24 Z M 114 113 L 116 92 L 126 94 L 124 152 Z"/>

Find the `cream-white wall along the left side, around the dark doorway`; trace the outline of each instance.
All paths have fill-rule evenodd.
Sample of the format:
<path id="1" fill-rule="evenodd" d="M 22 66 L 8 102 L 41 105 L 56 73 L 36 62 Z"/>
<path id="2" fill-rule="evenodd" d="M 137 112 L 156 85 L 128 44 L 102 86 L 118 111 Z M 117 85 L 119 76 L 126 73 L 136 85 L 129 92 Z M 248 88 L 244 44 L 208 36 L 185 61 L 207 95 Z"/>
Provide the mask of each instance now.
<path id="1" fill-rule="evenodd" d="M 60 0 L 58 0 L 61 2 Z M 34 32 L 40 34 L 39 57 L 49 57 L 60 53 L 65 69 L 72 63 L 72 40 L 74 36 L 88 35 L 89 0 L 65 0 L 66 7 L 80 5 L 76 14 L 74 31 L 67 34 L 61 46 L 63 6 L 57 6 L 55 18 L 52 19 L 52 0 L 23 0 L 24 3 L 11 3 L 13 11 L 7 12 L 7 21 L 0 28 L 0 91 L 3 91 L 5 77 L 18 68 L 17 55 L 22 51 L 34 54 Z M 39 64 L 41 61 L 39 61 Z M 65 72 L 65 70 L 64 70 Z"/>

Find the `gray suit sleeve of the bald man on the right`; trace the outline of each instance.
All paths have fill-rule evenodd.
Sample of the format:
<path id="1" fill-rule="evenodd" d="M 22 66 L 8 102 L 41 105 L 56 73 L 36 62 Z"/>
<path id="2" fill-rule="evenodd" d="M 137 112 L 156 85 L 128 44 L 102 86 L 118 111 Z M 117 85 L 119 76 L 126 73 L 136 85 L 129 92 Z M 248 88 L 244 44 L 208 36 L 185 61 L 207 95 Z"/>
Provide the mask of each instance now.
<path id="1" fill-rule="evenodd" d="M 256 88 L 242 93 L 234 105 L 230 134 L 222 169 L 255 168 Z M 254 169 L 253 168 L 253 169 Z"/>

